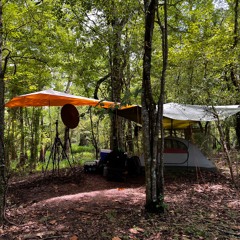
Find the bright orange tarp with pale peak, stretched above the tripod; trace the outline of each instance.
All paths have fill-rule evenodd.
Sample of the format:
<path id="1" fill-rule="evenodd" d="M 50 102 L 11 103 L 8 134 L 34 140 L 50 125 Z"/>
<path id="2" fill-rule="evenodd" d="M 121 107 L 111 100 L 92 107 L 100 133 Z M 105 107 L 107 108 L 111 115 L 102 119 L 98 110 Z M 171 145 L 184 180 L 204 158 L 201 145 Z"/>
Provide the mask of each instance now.
<path id="1" fill-rule="evenodd" d="M 14 97 L 9 102 L 7 102 L 5 106 L 13 108 L 30 106 L 64 106 L 65 104 L 72 104 L 75 106 L 99 106 L 104 108 L 110 108 L 117 105 L 114 102 L 74 96 L 68 93 L 58 92 L 49 89 Z"/>

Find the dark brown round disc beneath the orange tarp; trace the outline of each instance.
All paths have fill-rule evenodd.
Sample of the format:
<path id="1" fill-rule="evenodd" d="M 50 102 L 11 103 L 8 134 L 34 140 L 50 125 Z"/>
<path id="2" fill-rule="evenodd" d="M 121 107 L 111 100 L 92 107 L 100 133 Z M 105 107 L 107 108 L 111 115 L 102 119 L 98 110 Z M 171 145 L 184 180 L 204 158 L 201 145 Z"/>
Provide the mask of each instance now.
<path id="1" fill-rule="evenodd" d="M 77 108 L 72 104 L 65 104 L 61 109 L 61 118 L 68 128 L 76 128 L 79 123 L 79 113 Z"/>

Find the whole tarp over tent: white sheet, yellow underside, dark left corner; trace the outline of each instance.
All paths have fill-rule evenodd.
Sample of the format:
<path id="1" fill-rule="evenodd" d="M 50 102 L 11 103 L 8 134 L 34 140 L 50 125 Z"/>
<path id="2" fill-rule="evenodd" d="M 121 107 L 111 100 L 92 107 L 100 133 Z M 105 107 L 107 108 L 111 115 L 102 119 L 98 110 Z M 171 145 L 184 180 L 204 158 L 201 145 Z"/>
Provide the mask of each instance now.
<path id="1" fill-rule="evenodd" d="M 187 128 L 200 121 L 224 120 L 240 112 L 239 105 L 206 106 L 166 103 L 163 106 L 163 126 L 165 129 Z M 118 109 L 117 115 L 141 124 L 141 106 Z"/>

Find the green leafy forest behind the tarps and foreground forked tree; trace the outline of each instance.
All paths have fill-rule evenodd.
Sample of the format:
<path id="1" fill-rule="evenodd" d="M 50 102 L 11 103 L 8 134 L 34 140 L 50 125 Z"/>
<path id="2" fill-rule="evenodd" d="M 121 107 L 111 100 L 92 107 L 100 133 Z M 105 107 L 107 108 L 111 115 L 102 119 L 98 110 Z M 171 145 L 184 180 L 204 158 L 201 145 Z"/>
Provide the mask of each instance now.
<path id="1" fill-rule="evenodd" d="M 24 156 L 30 169 L 34 168 L 41 158 L 39 153 L 51 145 L 54 122 L 59 119 L 59 108 L 4 109 L 4 103 L 14 96 L 52 88 L 123 105 L 141 105 L 145 13 L 152 2 L 1 1 L 0 130 L 5 132 L 5 142 L 1 135 L 1 144 L 7 165 Z M 164 22 L 167 4 L 164 102 L 239 104 L 239 1 L 170 0 L 155 4 L 158 24 L 151 48 L 153 100 L 158 102 L 161 92 L 161 27 L 166 26 L 160 23 Z M 80 126 L 71 132 L 73 143 L 93 145 L 97 157 L 98 149 L 114 145 L 114 138 L 108 136 L 117 134 L 121 149 L 137 151 L 139 139 L 131 144 L 133 123 L 117 119 L 118 129 L 122 129 L 118 131 L 102 110 L 79 108 L 79 112 Z M 228 146 L 238 147 L 239 116 L 224 124 Z M 203 134 L 195 140 L 205 143 L 211 136 L 213 141 L 206 142 L 206 146 L 216 149 L 215 143 L 220 140 L 214 125 L 201 125 L 199 129 L 198 133 Z M 61 136 L 64 131 L 61 125 Z M 2 150 L 0 155 L 2 158 Z"/>

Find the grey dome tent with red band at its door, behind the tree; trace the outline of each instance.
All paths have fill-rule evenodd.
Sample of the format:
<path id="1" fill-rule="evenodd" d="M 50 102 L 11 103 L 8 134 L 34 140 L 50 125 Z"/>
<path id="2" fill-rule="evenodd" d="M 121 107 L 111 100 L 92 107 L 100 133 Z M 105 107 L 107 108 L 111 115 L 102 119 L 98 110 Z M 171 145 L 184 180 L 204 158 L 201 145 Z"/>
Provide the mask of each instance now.
<path id="1" fill-rule="evenodd" d="M 140 161 L 141 165 L 144 166 L 143 156 L 140 157 Z M 172 167 L 216 168 L 196 145 L 176 137 L 166 137 L 164 139 L 163 161 L 165 166 Z"/>

